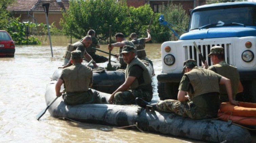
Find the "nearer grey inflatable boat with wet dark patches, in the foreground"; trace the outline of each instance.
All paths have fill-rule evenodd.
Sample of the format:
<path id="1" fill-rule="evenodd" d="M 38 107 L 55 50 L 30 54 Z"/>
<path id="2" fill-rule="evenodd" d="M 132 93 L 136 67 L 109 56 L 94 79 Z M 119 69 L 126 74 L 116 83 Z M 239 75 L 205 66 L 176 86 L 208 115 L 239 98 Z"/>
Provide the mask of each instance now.
<path id="1" fill-rule="evenodd" d="M 56 98 L 56 81 L 47 84 L 45 101 L 48 105 Z M 107 126 L 140 129 L 147 132 L 190 138 L 205 142 L 250 143 L 251 135 L 247 129 L 234 124 L 216 120 L 194 120 L 179 115 L 144 109 L 136 105 L 110 105 L 110 94 L 100 93 L 102 103 L 66 105 L 58 98 L 49 108 L 51 116 L 68 118 L 75 121 L 101 124 Z"/>

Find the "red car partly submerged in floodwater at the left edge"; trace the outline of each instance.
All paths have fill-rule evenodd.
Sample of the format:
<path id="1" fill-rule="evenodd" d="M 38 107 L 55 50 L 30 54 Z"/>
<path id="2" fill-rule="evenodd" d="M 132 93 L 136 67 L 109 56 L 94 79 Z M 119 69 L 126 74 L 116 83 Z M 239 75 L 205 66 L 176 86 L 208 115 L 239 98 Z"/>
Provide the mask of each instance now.
<path id="1" fill-rule="evenodd" d="M 9 33 L 4 30 L 0 30 L 0 56 L 11 56 L 15 53 L 15 44 Z"/>

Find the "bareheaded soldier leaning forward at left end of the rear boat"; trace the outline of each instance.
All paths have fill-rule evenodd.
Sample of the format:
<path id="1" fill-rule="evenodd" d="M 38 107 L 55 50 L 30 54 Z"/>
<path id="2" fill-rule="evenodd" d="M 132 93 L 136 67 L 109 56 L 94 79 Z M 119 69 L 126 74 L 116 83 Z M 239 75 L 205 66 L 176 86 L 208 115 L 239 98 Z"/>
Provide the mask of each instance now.
<path id="1" fill-rule="evenodd" d="M 85 57 L 86 60 L 91 61 L 92 58 L 91 56 L 86 52 L 87 47 L 89 47 L 91 45 L 91 37 L 90 36 L 85 36 L 81 41 L 78 41 L 76 43 L 73 43 L 72 46 L 74 47 L 75 50 L 80 50 L 82 52 L 82 55 Z M 71 66 L 71 60 L 69 60 L 69 62 L 63 66 L 63 67 L 59 67 L 59 68 L 66 68 Z M 97 68 L 97 64 L 96 62 L 93 61 L 93 67 Z"/>

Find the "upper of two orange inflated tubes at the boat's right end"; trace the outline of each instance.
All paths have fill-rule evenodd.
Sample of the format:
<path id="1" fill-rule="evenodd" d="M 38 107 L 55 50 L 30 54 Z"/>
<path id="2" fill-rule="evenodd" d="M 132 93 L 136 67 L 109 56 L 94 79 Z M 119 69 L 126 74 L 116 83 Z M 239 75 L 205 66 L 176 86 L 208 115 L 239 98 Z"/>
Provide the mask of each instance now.
<path id="1" fill-rule="evenodd" d="M 230 102 L 223 102 L 220 111 L 235 116 L 256 117 L 256 103 L 239 102 L 239 106 L 234 106 Z"/>

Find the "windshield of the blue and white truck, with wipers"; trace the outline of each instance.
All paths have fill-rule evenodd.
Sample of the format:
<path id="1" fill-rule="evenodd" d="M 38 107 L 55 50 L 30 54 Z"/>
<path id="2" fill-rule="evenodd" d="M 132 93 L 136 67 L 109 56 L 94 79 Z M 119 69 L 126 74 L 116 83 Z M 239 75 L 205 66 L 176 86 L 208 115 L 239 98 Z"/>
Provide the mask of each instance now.
<path id="1" fill-rule="evenodd" d="M 196 11 L 191 17 L 190 30 L 228 25 L 256 26 L 256 8 L 223 7 L 221 9 Z"/>

